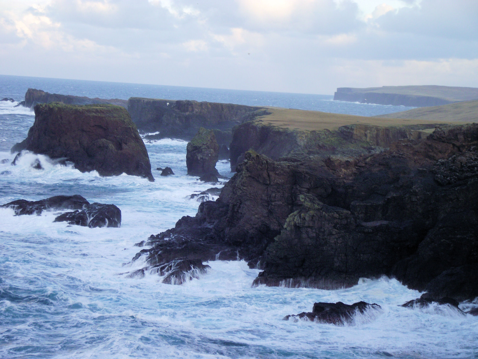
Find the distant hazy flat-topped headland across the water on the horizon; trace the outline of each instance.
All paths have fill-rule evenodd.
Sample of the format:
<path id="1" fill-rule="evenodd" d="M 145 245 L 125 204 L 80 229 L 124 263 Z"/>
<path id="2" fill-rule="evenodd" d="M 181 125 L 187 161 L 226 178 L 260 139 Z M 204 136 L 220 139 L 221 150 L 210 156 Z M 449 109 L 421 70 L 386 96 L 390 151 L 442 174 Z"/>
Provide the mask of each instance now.
<path id="1" fill-rule="evenodd" d="M 458 101 L 478 100 L 478 89 L 449 86 L 382 86 L 370 88 L 337 88 L 336 101 L 377 103 L 380 105 L 425 107 Z"/>

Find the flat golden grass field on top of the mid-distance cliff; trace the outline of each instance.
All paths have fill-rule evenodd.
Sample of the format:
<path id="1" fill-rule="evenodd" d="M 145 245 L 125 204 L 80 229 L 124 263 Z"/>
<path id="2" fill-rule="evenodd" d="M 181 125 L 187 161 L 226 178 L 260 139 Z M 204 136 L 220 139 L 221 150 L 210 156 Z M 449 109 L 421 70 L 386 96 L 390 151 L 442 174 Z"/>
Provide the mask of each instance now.
<path id="1" fill-rule="evenodd" d="M 448 105 L 447 105 L 448 106 Z M 408 118 L 381 118 L 381 117 L 365 117 L 355 115 L 344 115 L 339 113 L 328 113 L 320 111 L 304 111 L 284 109 L 279 107 L 266 107 L 271 114 L 258 117 L 256 121 L 263 124 L 270 124 L 277 127 L 303 130 L 303 131 L 320 131 L 333 130 L 337 127 L 349 124 L 365 124 L 380 127 L 396 127 L 414 124 L 440 124 L 453 123 L 460 124 L 457 121 L 440 121 L 440 120 L 423 120 Z M 464 123 L 464 122 L 463 122 Z"/>

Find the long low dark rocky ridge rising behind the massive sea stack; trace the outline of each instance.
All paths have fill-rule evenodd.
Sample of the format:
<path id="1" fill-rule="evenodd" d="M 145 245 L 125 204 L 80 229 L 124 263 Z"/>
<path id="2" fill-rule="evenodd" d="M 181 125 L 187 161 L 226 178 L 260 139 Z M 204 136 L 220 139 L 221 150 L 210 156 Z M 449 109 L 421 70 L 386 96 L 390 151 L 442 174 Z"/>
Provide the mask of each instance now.
<path id="1" fill-rule="evenodd" d="M 63 102 L 68 105 L 90 105 L 90 104 L 111 104 L 128 108 L 128 101 L 119 99 L 90 99 L 89 97 L 60 95 L 57 93 L 48 93 L 42 90 L 28 89 L 25 93 L 23 106 L 33 108 L 37 103 Z"/>

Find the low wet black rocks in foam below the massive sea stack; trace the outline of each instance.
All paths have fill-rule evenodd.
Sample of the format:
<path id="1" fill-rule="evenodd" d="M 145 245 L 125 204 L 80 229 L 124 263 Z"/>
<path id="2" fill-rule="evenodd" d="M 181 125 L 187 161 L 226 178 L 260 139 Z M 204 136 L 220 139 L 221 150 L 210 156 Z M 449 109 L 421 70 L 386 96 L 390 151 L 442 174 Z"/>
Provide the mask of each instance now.
<path id="1" fill-rule="evenodd" d="M 84 227 L 120 227 L 121 211 L 114 204 L 90 203 L 80 195 L 54 196 L 40 201 L 17 200 L 3 204 L 2 208 L 11 208 L 15 215 L 37 214 L 43 211 L 74 210 L 57 216 L 54 222 Z"/>

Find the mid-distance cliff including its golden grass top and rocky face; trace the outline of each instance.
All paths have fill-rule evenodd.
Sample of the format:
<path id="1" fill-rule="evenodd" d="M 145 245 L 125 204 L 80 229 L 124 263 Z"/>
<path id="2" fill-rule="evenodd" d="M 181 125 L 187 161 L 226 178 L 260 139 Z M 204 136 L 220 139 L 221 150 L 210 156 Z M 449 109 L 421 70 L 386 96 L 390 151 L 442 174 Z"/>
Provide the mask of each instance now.
<path id="1" fill-rule="evenodd" d="M 268 114 L 233 129 L 231 169 L 249 149 L 274 160 L 307 153 L 357 156 L 380 152 L 400 139 L 420 139 L 443 121 L 384 119 L 268 107 Z M 425 132 L 424 132 L 425 131 Z M 428 132 L 428 133 L 426 133 Z"/>

